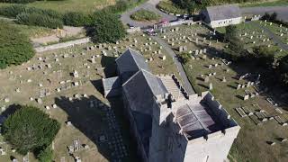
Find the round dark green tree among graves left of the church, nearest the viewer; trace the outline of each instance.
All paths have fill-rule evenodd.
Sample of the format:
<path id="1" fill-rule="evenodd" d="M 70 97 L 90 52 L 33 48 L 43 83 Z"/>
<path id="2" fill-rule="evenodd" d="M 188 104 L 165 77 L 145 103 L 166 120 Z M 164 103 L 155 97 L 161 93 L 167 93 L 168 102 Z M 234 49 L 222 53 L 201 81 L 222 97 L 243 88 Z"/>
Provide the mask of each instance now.
<path id="1" fill-rule="evenodd" d="M 55 138 L 60 124 L 49 115 L 32 106 L 21 106 L 4 121 L 4 139 L 26 155 L 31 151 L 40 153 Z"/>

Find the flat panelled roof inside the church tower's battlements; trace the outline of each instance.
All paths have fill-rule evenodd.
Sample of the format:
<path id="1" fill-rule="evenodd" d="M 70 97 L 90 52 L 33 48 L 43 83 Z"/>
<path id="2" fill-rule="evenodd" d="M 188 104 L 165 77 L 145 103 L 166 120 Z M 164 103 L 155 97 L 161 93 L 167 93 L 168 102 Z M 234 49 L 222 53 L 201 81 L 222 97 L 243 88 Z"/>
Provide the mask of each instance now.
<path id="1" fill-rule="evenodd" d="M 223 129 L 220 122 L 216 122 L 212 115 L 201 103 L 189 103 L 177 109 L 176 121 L 187 138 L 194 139 Z"/>

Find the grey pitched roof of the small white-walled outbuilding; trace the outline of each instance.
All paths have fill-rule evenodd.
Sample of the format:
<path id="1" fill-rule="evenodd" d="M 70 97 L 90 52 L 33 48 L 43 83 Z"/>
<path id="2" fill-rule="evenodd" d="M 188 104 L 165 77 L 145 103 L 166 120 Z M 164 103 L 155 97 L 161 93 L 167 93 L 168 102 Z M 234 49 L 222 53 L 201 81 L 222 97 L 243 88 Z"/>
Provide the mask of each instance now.
<path id="1" fill-rule="evenodd" d="M 240 8 L 235 4 L 209 6 L 206 10 L 211 22 L 241 17 Z"/>

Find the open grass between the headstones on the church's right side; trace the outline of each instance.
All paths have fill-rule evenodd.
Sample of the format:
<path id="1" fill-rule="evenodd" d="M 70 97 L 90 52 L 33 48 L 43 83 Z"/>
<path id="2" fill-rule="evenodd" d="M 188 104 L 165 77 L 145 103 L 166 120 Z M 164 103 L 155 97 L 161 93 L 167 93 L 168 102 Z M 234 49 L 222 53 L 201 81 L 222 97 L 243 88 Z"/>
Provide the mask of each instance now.
<path id="1" fill-rule="evenodd" d="M 247 32 L 251 35 L 255 31 L 255 36 L 257 34 L 263 34 L 261 31 L 257 30 L 255 27 L 240 24 L 241 33 Z M 175 29 L 175 27 L 174 27 Z M 170 29 L 169 29 L 170 30 Z M 197 36 L 194 35 L 197 33 Z M 246 47 L 251 48 L 251 40 L 247 35 L 247 38 L 243 40 L 247 43 Z M 270 161 L 287 161 L 287 142 L 280 142 L 278 138 L 288 138 L 287 127 L 281 126 L 277 121 L 258 121 L 255 115 L 249 117 L 240 117 L 235 108 L 239 106 L 247 106 L 254 112 L 263 110 L 269 115 L 280 115 L 284 121 L 288 121 L 288 110 L 287 101 L 280 97 L 280 94 L 287 94 L 280 86 L 274 85 L 269 87 L 266 93 L 260 93 L 255 98 L 243 100 L 243 96 L 246 94 L 245 89 L 250 92 L 257 92 L 257 89 L 250 86 L 245 89 L 237 90 L 238 84 L 247 84 L 248 81 L 254 81 L 252 78 L 247 78 L 243 80 L 238 80 L 238 76 L 244 75 L 246 73 L 251 73 L 254 76 L 258 74 L 265 74 L 266 71 L 263 68 L 258 67 L 253 62 L 247 62 L 243 64 L 235 64 L 232 62 L 230 66 L 221 65 L 221 54 L 222 49 L 224 49 L 225 43 L 217 42 L 213 37 L 211 38 L 211 46 L 208 46 L 209 37 L 211 32 L 209 32 L 205 27 L 201 25 L 192 26 L 179 26 L 179 31 L 169 31 L 162 33 L 161 37 L 166 36 L 166 40 L 171 48 L 178 53 L 179 46 L 187 46 L 188 51 L 195 51 L 196 49 L 207 48 L 207 58 L 202 59 L 202 54 L 195 56 L 184 65 L 185 72 L 191 81 L 193 88 L 196 92 L 200 93 L 202 91 L 209 90 L 209 84 L 212 83 L 213 89 L 211 93 L 215 96 L 216 100 L 219 101 L 224 108 L 229 112 L 232 118 L 238 121 L 241 127 L 239 131 L 238 138 L 235 140 L 232 148 L 229 152 L 229 160 L 233 162 L 247 161 L 247 162 L 270 162 Z M 190 37 L 192 40 L 185 42 L 183 36 Z M 179 38 L 181 38 L 179 40 Z M 198 38 L 198 43 L 195 43 L 196 38 Z M 206 42 L 203 42 L 203 38 L 207 38 Z M 174 40 L 172 40 L 174 39 Z M 254 45 L 260 45 L 261 43 L 266 43 L 261 40 L 256 40 L 257 43 Z M 174 44 L 172 46 L 172 44 Z M 194 53 L 194 52 L 192 52 Z M 287 54 L 287 53 L 286 53 Z M 218 67 L 212 66 L 208 68 L 209 65 L 218 64 Z M 227 72 L 229 69 L 229 72 Z M 216 72 L 216 76 L 210 76 L 210 81 L 208 83 L 204 82 L 204 77 L 208 76 L 209 73 Z M 226 78 L 226 82 L 222 82 L 223 76 Z M 263 75 L 265 76 L 265 75 Z M 270 76 L 273 78 L 273 76 Z M 271 79 L 270 78 L 270 79 Z M 259 89 L 258 89 L 259 90 Z M 262 90 L 260 90 L 263 92 Z M 282 114 L 275 111 L 275 107 L 266 101 L 266 97 L 271 97 L 276 103 L 279 103 L 279 109 L 282 110 Z M 259 107 L 253 106 L 252 104 L 257 103 Z M 257 125 L 252 118 L 259 122 Z M 275 146 L 270 146 L 267 144 L 268 141 L 274 141 Z"/>

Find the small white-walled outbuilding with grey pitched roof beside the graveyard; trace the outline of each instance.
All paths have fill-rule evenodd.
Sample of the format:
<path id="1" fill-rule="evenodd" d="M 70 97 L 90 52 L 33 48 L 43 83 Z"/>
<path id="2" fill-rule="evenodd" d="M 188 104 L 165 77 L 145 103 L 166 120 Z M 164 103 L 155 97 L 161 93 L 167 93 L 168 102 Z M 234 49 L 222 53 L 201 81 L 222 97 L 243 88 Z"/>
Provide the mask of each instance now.
<path id="1" fill-rule="evenodd" d="M 212 28 L 242 22 L 240 8 L 235 4 L 210 6 L 202 10 L 200 14 L 202 21 L 210 24 Z"/>

